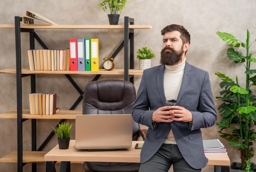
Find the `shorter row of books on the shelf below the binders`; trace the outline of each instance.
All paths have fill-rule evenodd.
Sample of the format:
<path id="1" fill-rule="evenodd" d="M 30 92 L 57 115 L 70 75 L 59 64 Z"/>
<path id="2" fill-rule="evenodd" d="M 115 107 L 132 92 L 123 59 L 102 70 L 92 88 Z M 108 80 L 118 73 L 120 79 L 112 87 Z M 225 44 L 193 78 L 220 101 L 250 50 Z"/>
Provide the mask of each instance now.
<path id="1" fill-rule="evenodd" d="M 57 95 L 32 93 L 29 94 L 29 110 L 31 115 L 53 115 L 59 111 L 56 108 Z"/>

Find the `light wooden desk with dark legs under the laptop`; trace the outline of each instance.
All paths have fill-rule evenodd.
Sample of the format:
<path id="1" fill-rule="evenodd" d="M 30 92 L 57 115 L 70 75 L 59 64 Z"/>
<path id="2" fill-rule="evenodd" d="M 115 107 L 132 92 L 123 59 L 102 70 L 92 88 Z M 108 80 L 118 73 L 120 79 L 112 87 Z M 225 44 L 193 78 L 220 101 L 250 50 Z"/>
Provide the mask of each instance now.
<path id="1" fill-rule="evenodd" d="M 132 147 L 128 150 L 88 152 L 76 150 L 75 140 L 70 140 L 68 149 L 61 150 L 58 145 L 45 154 L 45 170 L 53 172 L 54 161 L 61 161 L 60 172 L 70 172 L 70 161 L 92 161 L 92 162 L 131 162 L 139 163 L 140 149 L 135 149 L 136 143 L 144 141 L 132 141 Z M 207 165 L 214 165 L 215 171 L 229 172 L 230 160 L 227 154 L 205 154 L 209 159 Z"/>

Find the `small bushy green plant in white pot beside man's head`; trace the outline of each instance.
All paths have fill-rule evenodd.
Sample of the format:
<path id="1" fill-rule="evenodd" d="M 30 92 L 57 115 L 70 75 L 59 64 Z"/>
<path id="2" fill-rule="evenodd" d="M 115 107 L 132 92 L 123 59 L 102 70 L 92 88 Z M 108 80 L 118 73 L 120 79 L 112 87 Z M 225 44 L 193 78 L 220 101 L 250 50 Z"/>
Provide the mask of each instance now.
<path id="1" fill-rule="evenodd" d="M 151 67 L 151 59 L 155 57 L 155 52 L 151 48 L 144 46 L 135 51 L 139 59 L 139 69 L 144 70 Z"/>

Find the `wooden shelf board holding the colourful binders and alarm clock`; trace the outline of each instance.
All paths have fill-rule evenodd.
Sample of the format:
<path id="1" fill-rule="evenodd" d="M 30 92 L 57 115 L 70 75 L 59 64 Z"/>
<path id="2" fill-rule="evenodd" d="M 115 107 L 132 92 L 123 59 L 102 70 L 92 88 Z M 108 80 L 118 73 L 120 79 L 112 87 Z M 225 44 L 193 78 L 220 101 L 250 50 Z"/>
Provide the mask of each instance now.
<path id="1" fill-rule="evenodd" d="M 16 68 L 9 68 L 0 70 L 0 73 L 16 74 Z M 99 71 L 69 71 L 69 70 L 29 70 L 29 68 L 22 68 L 22 74 L 102 74 L 102 75 L 124 75 L 123 69 L 104 70 Z M 129 75 L 142 75 L 143 70 L 129 69 Z"/>

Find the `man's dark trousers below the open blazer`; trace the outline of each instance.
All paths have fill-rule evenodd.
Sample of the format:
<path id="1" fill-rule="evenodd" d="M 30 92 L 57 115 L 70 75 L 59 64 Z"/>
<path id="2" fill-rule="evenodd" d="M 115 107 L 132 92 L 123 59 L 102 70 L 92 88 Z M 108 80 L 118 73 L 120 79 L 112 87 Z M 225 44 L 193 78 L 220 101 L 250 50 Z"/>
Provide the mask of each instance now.
<path id="1" fill-rule="evenodd" d="M 175 144 L 163 144 L 150 160 L 141 163 L 139 172 L 168 172 L 171 165 L 174 172 L 201 172 L 184 160 Z"/>

